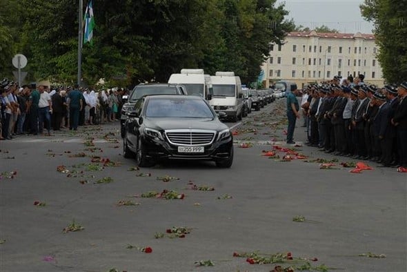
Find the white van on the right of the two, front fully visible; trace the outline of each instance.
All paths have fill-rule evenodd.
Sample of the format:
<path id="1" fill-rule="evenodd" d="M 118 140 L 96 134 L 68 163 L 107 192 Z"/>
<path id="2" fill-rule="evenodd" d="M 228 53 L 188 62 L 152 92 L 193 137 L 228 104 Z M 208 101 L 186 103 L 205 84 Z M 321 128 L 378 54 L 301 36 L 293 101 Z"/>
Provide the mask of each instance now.
<path id="1" fill-rule="evenodd" d="M 210 105 L 217 112 L 224 112 L 224 118 L 233 122 L 244 115 L 244 96 L 241 91 L 240 77 L 235 72 L 216 72 L 212 79 L 213 95 Z"/>

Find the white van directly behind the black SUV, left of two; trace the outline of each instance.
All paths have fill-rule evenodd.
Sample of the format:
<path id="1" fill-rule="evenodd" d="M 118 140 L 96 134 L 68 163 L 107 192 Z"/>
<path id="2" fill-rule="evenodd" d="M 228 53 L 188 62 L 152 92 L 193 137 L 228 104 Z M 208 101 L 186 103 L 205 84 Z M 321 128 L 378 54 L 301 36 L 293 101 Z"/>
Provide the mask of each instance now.
<path id="1" fill-rule="evenodd" d="M 186 87 L 188 95 L 212 99 L 210 75 L 205 75 L 203 69 L 182 69 L 180 74 L 172 74 L 168 83 L 182 84 Z"/>

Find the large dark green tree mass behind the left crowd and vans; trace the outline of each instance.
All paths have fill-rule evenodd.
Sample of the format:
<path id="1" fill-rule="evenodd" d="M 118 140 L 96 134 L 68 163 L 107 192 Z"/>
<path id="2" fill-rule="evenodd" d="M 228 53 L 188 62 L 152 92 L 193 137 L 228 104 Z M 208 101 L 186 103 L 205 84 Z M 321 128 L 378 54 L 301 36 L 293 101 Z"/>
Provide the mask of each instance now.
<path id="1" fill-rule="evenodd" d="M 101 77 L 126 78 L 123 86 L 162 82 L 181 68 L 232 70 L 249 82 L 269 43 L 294 29 L 276 0 L 94 0 L 93 8 L 93 46 L 82 49 L 88 84 Z M 0 72 L 10 73 L 12 55 L 21 52 L 28 80 L 75 82 L 78 11 L 77 0 L 1 0 Z"/>

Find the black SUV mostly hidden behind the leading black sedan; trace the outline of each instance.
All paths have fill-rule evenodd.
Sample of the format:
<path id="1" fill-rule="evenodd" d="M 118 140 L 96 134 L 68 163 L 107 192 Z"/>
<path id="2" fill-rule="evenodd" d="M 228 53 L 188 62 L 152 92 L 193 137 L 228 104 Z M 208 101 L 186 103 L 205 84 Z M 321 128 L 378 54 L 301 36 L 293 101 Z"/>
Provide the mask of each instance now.
<path id="1" fill-rule="evenodd" d="M 136 102 L 146 95 L 188 95 L 186 88 L 179 84 L 139 84 L 128 95 L 127 103 L 123 104 L 120 115 L 120 135 L 124 137 L 124 123 L 132 113 Z"/>

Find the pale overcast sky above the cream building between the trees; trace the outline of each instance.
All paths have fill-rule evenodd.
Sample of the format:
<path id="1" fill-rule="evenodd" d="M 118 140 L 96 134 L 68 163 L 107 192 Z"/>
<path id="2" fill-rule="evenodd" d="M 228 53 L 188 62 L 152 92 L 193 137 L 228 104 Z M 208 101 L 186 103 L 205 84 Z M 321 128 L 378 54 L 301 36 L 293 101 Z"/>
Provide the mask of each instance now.
<path id="1" fill-rule="evenodd" d="M 315 28 L 321 25 L 341 33 L 372 33 L 373 23 L 361 17 L 359 5 L 363 0 L 277 0 L 286 3 L 287 19 L 295 24 Z"/>

